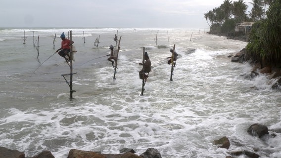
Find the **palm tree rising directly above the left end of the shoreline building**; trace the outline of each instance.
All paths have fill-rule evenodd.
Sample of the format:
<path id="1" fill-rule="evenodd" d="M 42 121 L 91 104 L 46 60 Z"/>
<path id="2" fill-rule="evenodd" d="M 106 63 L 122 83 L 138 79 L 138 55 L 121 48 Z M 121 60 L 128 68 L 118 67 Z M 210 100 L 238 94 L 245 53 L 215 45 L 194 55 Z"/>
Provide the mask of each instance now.
<path id="1" fill-rule="evenodd" d="M 238 0 L 233 2 L 234 9 L 233 9 L 233 15 L 237 22 L 242 22 L 246 19 L 246 10 L 248 8 L 248 5 L 245 4 L 243 0 Z"/>

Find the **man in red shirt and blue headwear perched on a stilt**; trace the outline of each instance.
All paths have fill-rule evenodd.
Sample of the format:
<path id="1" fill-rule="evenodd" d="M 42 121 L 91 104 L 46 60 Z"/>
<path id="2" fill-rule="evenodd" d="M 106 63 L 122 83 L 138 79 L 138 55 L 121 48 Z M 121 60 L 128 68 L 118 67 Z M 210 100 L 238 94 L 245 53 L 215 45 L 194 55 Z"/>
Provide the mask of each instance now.
<path id="1" fill-rule="evenodd" d="M 61 47 L 59 48 L 59 49 L 57 49 L 55 52 L 57 53 L 59 50 L 59 52 L 58 52 L 58 54 L 60 55 L 60 56 L 62 56 L 62 57 L 64 57 L 64 59 L 65 59 L 65 61 L 67 62 L 67 61 L 70 61 L 70 56 L 69 56 L 69 52 L 70 52 L 70 45 L 71 44 L 73 44 L 74 43 L 74 41 L 72 41 L 72 40 L 68 40 L 68 39 L 66 39 L 65 38 L 65 35 L 64 35 L 64 33 L 62 33 L 61 35 L 60 35 L 60 38 L 61 38 Z M 67 57 L 68 58 L 67 58 Z"/>

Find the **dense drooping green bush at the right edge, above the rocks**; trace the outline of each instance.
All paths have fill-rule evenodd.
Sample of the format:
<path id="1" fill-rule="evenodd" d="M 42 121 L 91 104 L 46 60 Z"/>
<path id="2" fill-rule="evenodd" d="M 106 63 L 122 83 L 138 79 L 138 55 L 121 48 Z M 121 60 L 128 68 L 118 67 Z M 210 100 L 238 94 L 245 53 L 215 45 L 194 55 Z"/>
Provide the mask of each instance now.
<path id="1" fill-rule="evenodd" d="M 256 22 L 249 34 L 246 59 L 262 67 L 281 66 L 281 0 L 270 2 L 267 18 Z"/>

